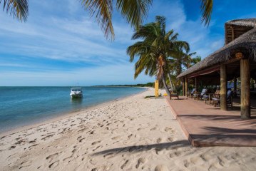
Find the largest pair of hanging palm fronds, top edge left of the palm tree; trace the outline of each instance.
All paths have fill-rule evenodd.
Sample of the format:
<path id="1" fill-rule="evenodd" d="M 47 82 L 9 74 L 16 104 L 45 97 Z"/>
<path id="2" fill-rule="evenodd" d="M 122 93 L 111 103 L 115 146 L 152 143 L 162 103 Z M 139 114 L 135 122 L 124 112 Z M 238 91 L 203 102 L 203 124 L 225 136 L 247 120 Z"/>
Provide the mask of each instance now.
<path id="1" fill-rule="evenodd" d="M 80 0 L 84 9 L 91 16 L 96 16 L 96 21 L 101 26 L 106 38 L 114 39 L 115 33 L 112 24 L 113 7 L 121 13 L 128 24 L 138 28 L 148 15 L 148 9 L 153 0 Z M 113 3 L 116 2 L 116 5 Z"/>

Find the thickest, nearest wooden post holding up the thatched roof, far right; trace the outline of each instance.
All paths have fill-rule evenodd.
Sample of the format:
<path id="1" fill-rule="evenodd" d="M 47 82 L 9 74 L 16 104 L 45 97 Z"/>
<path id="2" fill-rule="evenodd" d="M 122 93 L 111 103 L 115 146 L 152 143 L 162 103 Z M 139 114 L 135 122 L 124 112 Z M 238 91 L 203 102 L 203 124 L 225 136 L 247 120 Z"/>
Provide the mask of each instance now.
<path id="1" fill-rule="evenodd" d="M 241 78 L 241 118 L 250 118 L 250 63 L 248 59 L 240 61 L 240 78 Z"/>

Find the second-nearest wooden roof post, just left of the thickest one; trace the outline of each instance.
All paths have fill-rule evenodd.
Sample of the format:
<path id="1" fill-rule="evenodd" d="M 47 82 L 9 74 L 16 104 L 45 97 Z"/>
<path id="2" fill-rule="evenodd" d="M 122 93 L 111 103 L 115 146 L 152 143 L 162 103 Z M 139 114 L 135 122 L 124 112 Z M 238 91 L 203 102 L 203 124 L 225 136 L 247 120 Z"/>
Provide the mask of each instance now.
<path id="1" fill-rule="evenodd" d="M 227 110 L 227 73 L 225 64 L 220 65 L 220 109 Z"/>

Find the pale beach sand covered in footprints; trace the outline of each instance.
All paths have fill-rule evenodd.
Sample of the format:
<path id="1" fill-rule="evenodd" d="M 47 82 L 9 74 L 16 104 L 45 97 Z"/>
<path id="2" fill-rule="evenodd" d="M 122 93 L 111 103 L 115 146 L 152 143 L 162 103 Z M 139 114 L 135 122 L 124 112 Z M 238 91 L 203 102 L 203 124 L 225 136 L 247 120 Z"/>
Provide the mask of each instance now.
<path id="1" fill-rule="evenodd" d="M 256 147 L 192 147 L 153 94 L 1 134 L 0 170 L 256 170 Z"/>

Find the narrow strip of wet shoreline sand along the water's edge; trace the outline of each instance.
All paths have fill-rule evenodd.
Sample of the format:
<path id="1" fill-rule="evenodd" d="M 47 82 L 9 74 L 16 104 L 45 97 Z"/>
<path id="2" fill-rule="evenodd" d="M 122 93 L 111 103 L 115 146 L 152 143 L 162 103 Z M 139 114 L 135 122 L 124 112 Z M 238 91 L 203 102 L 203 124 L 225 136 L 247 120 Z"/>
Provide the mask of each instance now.
<path id="1" fill-rule="evenodd" d="M 144 93 L 145 91 L 150 89 L 150 87 L 137 87 L 137 88 L 145 88 L 145 90 L 143 90 L 139 93 L 133 93 L 131 95 L 128 95 L 128 96 L 125 96 L 125 97 L 122 97 L 122 98 L 116 98 L 114 100 L 106 101 L 104 103 L 98 103 L 96 105 L 90 105 L 86 108 L 81 108 L 79 110 L 73 110 L 73 111 L 64 112 L 64 113 L 61 112 L 61 113 L 58 113 L 58 115 L 55 115 L 55 116 L 53 115 L 49 118 L 44 118 L 44 119 L 35 121 L 34 123 L 28 123 L 27 125 L 18 126 L 16 128 L 11 129 L 11 130 L 9 130 L 9 129 L 4 130 L 3 132 L 0 132 L 0 138 L 3 137 L 3 136 L 6 136 L 6 135 L 11 135 L 11 134 L 14 134 L 14 133 L 18 133 L 18 132 L 23 131 L 23 130 L 29 130 L 29 129 L 36 128 L 36 127 L 39 127 L 39 126 L 42 126 L 42 125 L 46 125 L 48 123 L 53 123 L 53 122 L 56 122 L 58 120 L 62 120 L 64 118 L 72 117 L 74 115 L 79 115 L 80 113 L 83 113 L 83 112 L 86 112 L 86 111 L 89 111 L 89 110 L 94 110 L 96 108 L 101 108 L 103 106 L 106 106 L 106 105 L 109 105 L 109 104 L 115 102 L 116 100 L 123 100 L 123 99 L 126 99 L 126 98 L 130 98 L 130 97 L 133 97 L 134 95 Z"/>

